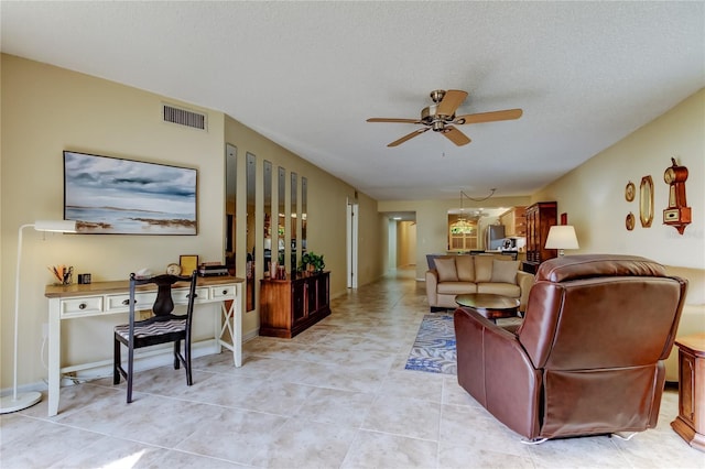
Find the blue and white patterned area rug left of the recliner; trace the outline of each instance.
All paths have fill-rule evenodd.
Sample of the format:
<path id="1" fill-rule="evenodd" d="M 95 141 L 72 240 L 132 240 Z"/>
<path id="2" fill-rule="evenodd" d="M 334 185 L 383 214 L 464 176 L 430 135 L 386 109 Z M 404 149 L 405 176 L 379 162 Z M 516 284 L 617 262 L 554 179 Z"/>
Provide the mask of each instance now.
<path id="1" fill-rule="evenodd" d="M 457 374 L 453 316 L 427 314 L 423 317 L 405 368 Z"/>

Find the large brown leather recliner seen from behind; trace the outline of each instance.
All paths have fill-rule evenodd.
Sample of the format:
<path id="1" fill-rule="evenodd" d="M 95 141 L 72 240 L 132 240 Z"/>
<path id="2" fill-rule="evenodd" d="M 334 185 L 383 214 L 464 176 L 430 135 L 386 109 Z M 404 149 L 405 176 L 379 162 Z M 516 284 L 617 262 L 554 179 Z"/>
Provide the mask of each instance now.
<path id="1" fill-rule="evenodd" d="M 516 331 L 455 310 L 458 383 L 531 440 L 652 428 L 686 290 L 643 258 L 546 261 Z"/>

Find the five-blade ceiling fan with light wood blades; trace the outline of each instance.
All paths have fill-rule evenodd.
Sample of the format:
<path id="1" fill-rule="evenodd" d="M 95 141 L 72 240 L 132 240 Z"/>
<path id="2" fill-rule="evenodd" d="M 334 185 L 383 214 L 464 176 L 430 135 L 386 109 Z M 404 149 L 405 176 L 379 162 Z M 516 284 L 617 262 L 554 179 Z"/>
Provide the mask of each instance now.
<path id="1" fill-rule="evenodd" d="M 457 108 L 467 98 L 467 91 L 459 89 L 436 89 L 431 91 L 433 105 L 421 111 L 421 119 L 391 119 L 391 118 L 370 118 L 368 122 L 395 122 L 395 123 L 419 123 L 424 127 L 394 140 L 387 146 L 397 146 L 406 140 L 413 139 L 431 129 L 434 132 L 443 133 L 448 140 L 458 146 L 470 143 L 470 139 L 460 132 L 454 126 L 463 126 L 466 123 L 495 122 L 499 120 L 519 119 L 523 111 L 521 109 L 506 109 L 503 111 L 479 112 L 475 114 L 455 116 Z"/>

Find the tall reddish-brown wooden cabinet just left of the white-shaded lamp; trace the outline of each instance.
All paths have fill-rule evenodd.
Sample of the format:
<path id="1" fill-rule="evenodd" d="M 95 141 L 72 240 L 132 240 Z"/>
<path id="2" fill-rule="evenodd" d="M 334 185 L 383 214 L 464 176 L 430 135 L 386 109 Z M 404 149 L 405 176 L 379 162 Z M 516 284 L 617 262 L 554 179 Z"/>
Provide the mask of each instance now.
<path id="1" fill-rule="evenodd" d="M 557 204 L 539 201 L 527 207 L 527 261 L 523 270 L 535 273 L 539 264 L 557 255 L 557 250 L 545 249 L 549 230 L 557 225 Z"/>

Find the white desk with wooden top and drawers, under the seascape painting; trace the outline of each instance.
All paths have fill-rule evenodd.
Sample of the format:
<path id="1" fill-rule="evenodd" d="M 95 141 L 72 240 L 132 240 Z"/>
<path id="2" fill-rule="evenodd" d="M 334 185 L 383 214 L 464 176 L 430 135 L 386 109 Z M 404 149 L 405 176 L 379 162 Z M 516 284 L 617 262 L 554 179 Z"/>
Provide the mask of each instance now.
<path id="1" fill-rule="evenodd" d="M 219 352 L 220 347 L 231 350 L 236 367 L 242 364 L 242 279 L 234 276 L 212 276 L 198 277 L 196 286 L 195 307 L 220 303 L 220 312 L 216 312 L 214 338 L 217 350 L 214 352 Z M 151 308 L 156 298 L 156 286 L 144 285 L 138 288 L 135 301 L 138 304 L 145 305 L 145 308 Z M 172 290 L 174 304 L 185 305 L 187 294 L 188 283 L 175 284 Z M 129 312 L 130 282 L 47 285 L 44 296 L 48 298 L 48 415 L 51 417 L 58 413 L 62 373 L 91 367 L 87 364 L 62 368 L 62 320 Z M 227 336 L 226 332 L 228 332 Z M 230 342 L 225 340 L 228 337 Z M 109 350 L 112 350 L 112 346 Z"/>

